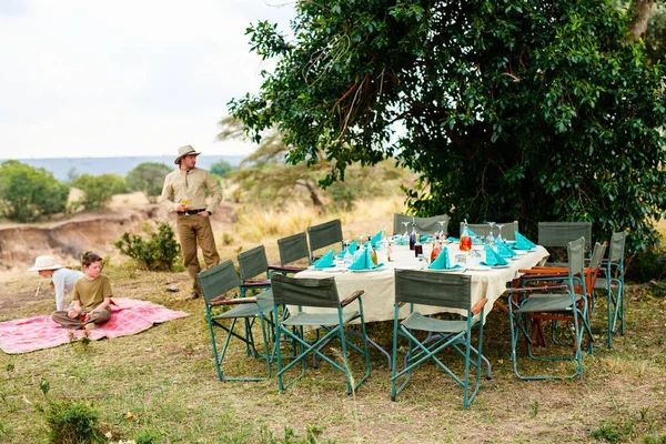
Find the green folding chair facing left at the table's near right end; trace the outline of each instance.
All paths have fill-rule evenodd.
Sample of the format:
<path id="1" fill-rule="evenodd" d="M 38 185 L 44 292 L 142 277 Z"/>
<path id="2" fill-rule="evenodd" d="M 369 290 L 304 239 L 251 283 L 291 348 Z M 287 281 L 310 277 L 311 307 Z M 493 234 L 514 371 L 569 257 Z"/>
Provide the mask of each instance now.
<path id="1" fill-rule="evenodd" d="M 524 286 L 508 289 L 508 317 L 511 327 L 511 359 L 514 373 L 522 380 L 551 380 L 551 379 L 583 379 L 583 336 L 587 333 L 588 351 L 593 353 L 592 330 L 589 327 L 589 312 L 587 304 L 587 291 L 584 279 L 584 251 L 585 239 L 579 238 L 569 242 L 568 272 L 563 282 L 562 276 L 549 278 L 547 275 L 531 276 L 539 282 L 539 286 Z M 553 285 L 544 285 L 552 281 Z M 573 350 L 567 355 L 536 356 L 533 353 L 533 337 L 531 334 L 531 322 L 542 321 L 569 321 L 574 326 L 573 345 L 565 350 Z M 518 336 L 524 336 L 525 351 L 529 359 L 541 361 L 575 361 L 576 370 L 566 375 L 523 375 L 518 372 L 517 344 Z M 552 345 L 553 347 L 555 345 Z"/>

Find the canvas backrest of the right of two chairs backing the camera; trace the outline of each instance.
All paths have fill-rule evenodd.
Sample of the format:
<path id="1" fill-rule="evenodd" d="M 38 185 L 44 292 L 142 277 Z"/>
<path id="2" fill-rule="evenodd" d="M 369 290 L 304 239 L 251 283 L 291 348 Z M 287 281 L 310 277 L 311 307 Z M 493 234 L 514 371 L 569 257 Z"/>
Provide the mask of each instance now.
<path id="1" fill-rule="evenodd" d="M 465 274 L 395 270 L 395 302 L 472 309 L 472 278 Z"/>

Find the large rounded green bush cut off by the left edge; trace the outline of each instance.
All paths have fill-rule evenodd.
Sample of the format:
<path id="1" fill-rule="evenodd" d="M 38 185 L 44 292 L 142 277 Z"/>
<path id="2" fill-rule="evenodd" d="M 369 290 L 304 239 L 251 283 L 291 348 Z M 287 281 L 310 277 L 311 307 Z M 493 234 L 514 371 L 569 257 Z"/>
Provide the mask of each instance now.
<path id="1" fill-rule="evenodd" d="M 0 214 L 18 222 L 33 222 L 67 210 L 69 186 L 43 168 L 16 160 L 0 168 Z"/>

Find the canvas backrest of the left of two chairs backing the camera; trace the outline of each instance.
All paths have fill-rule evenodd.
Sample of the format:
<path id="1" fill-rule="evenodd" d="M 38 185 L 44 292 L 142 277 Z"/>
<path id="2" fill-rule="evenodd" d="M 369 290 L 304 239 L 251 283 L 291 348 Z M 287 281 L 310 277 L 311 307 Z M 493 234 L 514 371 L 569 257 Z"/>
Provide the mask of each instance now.
<path id="1" fill-rule="evenodd" d="M 340 307 L 334 278 L 297 279 L 276 273 L 271 276 L 271 289 L 276 305 Z"/>

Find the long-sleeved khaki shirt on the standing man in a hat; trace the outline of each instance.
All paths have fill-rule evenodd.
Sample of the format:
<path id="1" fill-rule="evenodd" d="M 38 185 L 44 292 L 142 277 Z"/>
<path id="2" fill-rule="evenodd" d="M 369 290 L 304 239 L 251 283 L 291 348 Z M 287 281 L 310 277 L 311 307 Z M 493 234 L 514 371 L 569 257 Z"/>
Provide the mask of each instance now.
<path id="1" fill-rule="evenodd" d="M 205 200 L 205 190 L 210 191 L 210 203 Z M 193 168 L 184 172 L 180 168 L 167 174 L 164 186 L 158 202 L 169 212 L 178 210 L 179 202 L 188 196 L 188 210 L 205 209 L 211 214 L 218 210 L 222 193 L 218 182 L 206 170 Z M 173 198 L 173 200 L 170 200 Z"/>

